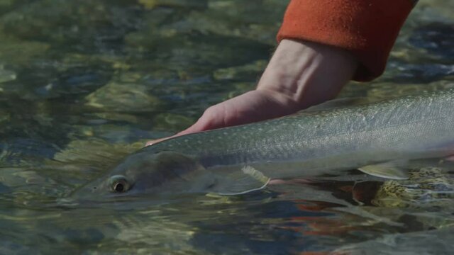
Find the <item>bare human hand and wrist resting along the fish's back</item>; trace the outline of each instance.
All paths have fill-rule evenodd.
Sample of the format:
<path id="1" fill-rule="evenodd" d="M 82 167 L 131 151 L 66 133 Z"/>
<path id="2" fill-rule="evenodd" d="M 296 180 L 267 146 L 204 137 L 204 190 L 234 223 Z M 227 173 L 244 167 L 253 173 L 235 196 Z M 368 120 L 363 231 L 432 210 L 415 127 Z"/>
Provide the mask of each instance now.
<path id="1" fill-rule="evenodd" d="M 172 136 L 277 118 L 334 98 L 357 61 L 347 51 L 316 42 L 282 40 L 257 89 L 206 109 L 191 127 Z M 148 145 L 166 140 L 147 142 Z"/>

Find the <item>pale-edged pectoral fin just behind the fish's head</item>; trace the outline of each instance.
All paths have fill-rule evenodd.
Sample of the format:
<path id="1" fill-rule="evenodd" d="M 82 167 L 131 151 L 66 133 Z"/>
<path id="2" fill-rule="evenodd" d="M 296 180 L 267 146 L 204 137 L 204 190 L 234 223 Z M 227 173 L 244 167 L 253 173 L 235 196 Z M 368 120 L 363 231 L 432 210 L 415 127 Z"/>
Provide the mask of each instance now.
<path id="1" fill-rule="evenodd" d="M 265 188 L 270 178 L 252 166 L 243 166 L 240 171 L 233 171 L 228 176 L 221 176 L 218 185 L 212 188 L 212 192 L 223 196 L 234 196 L 259 191 Z"/>

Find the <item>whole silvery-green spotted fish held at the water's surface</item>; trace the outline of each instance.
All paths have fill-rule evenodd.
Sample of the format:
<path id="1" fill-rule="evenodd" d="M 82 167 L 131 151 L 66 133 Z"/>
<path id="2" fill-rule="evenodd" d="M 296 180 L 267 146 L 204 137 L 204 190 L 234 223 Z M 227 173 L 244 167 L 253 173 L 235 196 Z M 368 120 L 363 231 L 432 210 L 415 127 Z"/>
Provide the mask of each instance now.
<path id="1" fill-rule="evenodd" d="M 367 174 L 405 179 L 402 159 L 453 154 L 454 90 L 356 106 L 316 106 L 284 118 L 175 137 L 140 149 L 75 196 L 258 190 L 269 179 Z"/>

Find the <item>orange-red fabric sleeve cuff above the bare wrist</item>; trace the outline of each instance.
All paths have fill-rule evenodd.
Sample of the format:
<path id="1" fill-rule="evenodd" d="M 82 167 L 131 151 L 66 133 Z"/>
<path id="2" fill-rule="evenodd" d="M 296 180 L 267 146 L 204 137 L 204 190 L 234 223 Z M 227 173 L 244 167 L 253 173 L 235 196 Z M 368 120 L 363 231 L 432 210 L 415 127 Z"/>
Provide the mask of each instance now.
<path id="1" fill-rule="evenodd" d="M 349 50 L 360 62 L 353 79 L 370 81 L 386 66 L 410 0 L 292 0 L 277 33 Z"/>

